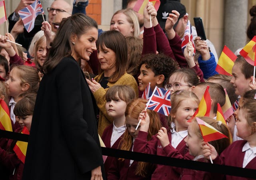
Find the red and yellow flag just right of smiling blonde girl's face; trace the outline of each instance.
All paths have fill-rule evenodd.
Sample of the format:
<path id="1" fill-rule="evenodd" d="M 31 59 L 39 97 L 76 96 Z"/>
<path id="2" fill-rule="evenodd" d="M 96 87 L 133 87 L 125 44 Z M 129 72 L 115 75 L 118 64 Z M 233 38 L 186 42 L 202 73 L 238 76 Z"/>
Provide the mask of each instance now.
<path id="1" fill-rule="evenodd" d="M 209 94 L 209 86 L 207 86 L 205 92 L 204 92 L 204 96 L 202 97 L 198 108 L 196 110 L 196 112 L 194 113 L 194 117 L 198 117 L 198 116 L 210 116 L 210 111 L 211 111 L 211 106 L 212 106 L 212 102 L 211 102 L 211 96 Z"/>

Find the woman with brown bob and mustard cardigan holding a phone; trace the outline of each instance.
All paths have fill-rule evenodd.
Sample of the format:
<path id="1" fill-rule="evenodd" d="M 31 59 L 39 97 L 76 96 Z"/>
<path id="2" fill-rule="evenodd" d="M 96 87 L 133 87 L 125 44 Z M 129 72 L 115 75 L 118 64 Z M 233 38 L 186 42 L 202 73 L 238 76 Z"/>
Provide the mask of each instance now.
<path id="1" fill-rule="evenodd" d="M 131 86 L 138 97 L 138 85 L 134 77 L 127 74 L 128 50 L 124 35 L 116 30 L 106 31 L 97 41 L 98 60 L 102 72 L 87 83 L 99 108 L 98 133 L 102 136 L 104 129 L 113 123 L 106 113 L 104 95 L 108 88 L 114 85 L 126 84 Z"/>

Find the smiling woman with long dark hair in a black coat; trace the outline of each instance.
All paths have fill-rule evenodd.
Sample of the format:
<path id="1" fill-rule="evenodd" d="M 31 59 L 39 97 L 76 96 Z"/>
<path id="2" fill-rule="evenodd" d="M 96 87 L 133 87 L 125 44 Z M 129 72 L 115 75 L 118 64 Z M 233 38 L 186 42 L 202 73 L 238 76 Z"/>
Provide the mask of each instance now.
<path id="1" fill-rule="evenodd" d="M 102 179 L 96 104 L 78 61 L 96 50 L 96 22 L 63 19 L 44 62 L 23 180 Z"/>

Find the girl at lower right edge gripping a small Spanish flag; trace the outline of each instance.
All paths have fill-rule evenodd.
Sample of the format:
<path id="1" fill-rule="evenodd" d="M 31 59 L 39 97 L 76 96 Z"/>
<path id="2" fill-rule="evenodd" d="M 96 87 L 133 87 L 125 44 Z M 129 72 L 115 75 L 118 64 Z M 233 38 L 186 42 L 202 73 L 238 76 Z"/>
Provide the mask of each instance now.
<path id="1" fill-rule="evenodd" d="M 236 166 L 240 168 L 256 169 L 256 101 L 246 99 L 240 107 L 236 118 L 236 135 L 242 140 L 236 140 L 230 144 L 221 154 L 218 154 L 214 146 L 203 146 L 205 158 L 211 156 L 214 164 Z M 224 175 L 226 180 L 246 180 L 248 178 Z"/>

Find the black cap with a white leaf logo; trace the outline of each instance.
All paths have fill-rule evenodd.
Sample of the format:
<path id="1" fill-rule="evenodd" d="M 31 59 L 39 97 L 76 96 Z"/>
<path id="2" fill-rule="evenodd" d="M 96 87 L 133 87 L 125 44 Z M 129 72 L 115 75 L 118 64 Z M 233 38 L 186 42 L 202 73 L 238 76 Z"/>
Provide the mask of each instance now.
<path id="1" fill-rule="evenodd" d="M 157 20 L 161 26 L 161 28 L 164 30 L 165 29 L 165 22 L 167 17 L 169 17 L 169 13 L 172 13 L 172 10 L 176 10 L 180 13 L 180 16 L 178 18 L 178 20 L 180 18 L 182 18 L 187 12 L 186 12 L 186 7 L 181 4 L 178 1 L 167 1 L 162 7 L 160 7 L 158 9 L 157 12 Z M 178 24 L 177 23 L 174 25 L 174 27 Z"/>

